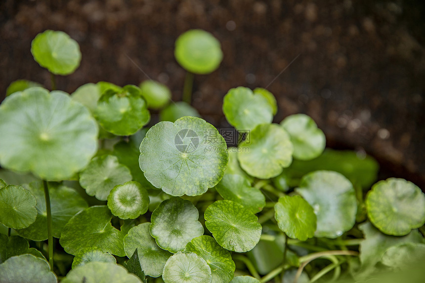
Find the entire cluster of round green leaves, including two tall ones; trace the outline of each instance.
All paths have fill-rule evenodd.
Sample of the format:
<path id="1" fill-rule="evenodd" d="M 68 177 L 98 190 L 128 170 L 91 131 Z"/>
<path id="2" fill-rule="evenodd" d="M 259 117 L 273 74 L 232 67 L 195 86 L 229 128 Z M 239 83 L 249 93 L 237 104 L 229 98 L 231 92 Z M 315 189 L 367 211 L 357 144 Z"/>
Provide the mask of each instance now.
<path id="1" fill-rule="evenodd" d="M 81 60 L 62 32 L 38 35 L 31 50 L 52 74 Z M 207 74 L 222 52 L 192 30 L 175 57 Z M 189 104 L 169 104 L 156 81 L 87 83 L 68 95 L 20 80 L 7 95 L 1 282 L 362 281 L 425 257 L 422 191 L 404 179 L 375 183 L 371 157 L 325 150 L 306 115 L 272 123 L 266 89 L 224 97 L 227 121 L 249 133 L 237 148 Z M 149 124 L 149 109 L 160 122 Z"/>

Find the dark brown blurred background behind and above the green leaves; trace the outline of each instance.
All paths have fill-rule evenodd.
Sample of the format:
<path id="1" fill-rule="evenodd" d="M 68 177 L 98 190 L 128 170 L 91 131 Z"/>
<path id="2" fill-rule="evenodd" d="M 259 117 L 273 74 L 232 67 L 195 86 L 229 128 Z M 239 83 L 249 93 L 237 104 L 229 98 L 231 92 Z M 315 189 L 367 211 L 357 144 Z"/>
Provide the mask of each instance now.
<path id="1" fill-rule="evenodd" d="M 180 100 L 185 72 L 174 41 L 201 28 L 224 52 L 217 71 L 195 77 L 193 105 L 207 121 L 228 127 L 221 104 L 229 88 L 268 86 L 276 122 L 308 114 L 328 146 L 366 151 L 381 162 L 382 178 L 425 189 L 423 0 L 2 0 L 0 11 L 0 100 L 17 79 L 50 87 L 30 52 L 46 29 L 68 33 L 83 54 L 59 89 L 138 84 L 145 72 Z"/>

